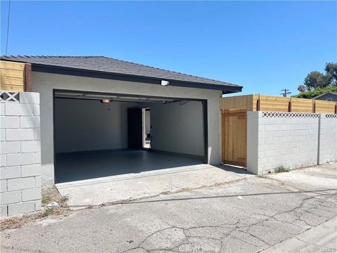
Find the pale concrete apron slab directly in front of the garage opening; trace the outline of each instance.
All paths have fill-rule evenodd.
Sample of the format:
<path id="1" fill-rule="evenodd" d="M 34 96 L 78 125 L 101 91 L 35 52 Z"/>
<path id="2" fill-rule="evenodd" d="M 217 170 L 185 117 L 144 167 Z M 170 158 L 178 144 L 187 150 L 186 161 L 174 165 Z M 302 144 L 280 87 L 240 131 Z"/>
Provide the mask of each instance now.
<path id="1" fill-rule="evenodd" d="M 226 168 L 229 169 L 225 170 Z M 237 169 L 234 168 L 235 170 Z M 61 195 L 69 197 L 67 203 L 70 207 L 79 208 L 216 186 L 253 176 L 249 173 L 237 174 L 234 171 L 225 166 L 197 164 L 174 169 L 144 171 L 138 174 L 58 183 L 56 187 Z"/>

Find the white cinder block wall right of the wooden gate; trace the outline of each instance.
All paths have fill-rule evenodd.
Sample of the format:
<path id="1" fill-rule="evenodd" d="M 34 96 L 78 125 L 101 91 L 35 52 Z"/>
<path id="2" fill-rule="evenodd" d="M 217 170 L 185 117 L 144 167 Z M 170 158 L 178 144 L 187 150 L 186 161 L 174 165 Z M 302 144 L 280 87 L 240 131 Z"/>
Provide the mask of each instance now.
<path id="1" fill-rule="evenodd" d="M 337 160 L 337 115 L 247 112 L 247 169 L 265 174 Z"/>

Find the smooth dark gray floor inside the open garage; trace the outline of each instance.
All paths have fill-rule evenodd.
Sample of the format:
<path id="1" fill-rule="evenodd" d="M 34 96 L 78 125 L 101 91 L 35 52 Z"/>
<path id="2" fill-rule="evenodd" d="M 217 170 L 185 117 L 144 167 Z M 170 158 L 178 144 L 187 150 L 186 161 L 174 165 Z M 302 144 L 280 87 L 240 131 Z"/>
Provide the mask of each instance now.
<path id="1" fill-rule="evenodd" d="M 56 155 L 57 183 L 202 164 L 203 160 L 144 150 Z"/>

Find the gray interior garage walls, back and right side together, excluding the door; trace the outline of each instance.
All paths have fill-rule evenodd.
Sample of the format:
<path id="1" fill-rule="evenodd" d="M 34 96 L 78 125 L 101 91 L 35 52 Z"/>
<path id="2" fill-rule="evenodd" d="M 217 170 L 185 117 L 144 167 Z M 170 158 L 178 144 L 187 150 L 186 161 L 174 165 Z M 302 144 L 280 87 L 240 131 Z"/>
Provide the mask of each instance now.
<path id="1" fill-rule="evenodd" d="M 128 108 L 147 108 L 152 149 L 204 156 L 202 105 L 199 101 L 132 103 L 55 98 L 55 151 L 128 148 Z"/>

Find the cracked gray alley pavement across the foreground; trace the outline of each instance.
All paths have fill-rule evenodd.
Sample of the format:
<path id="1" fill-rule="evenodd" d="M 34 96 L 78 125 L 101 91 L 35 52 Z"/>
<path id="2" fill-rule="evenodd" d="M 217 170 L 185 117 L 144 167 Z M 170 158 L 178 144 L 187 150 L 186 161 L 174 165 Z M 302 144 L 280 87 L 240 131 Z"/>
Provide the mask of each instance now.
<path id="1" fill-rule="evenodd" d="M 336 252 L 337 166 L 250 176 L 1 232 L 1 252 Z"/>

